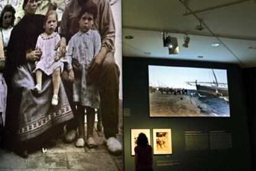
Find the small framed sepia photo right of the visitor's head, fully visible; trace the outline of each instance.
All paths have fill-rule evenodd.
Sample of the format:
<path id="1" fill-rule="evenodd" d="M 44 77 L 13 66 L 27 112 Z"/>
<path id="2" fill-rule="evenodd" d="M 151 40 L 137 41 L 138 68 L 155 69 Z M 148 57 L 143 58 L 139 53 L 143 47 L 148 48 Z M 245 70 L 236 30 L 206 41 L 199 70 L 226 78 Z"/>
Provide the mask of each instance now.
<path id="1" fill-rule="evenodd" d="M 153 129 L 153 154 L 173 154 L 171 129 Z"/>

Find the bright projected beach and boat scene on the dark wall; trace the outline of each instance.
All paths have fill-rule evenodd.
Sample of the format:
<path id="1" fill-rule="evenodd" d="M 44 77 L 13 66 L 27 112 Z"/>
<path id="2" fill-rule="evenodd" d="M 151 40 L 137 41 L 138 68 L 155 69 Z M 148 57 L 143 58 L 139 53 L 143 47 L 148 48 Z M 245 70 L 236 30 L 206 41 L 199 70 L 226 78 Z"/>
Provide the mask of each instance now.
<path id="1" fill-rule="evenodd" d="M 223 69 L 148 65 L 150 117 L 230 117 Z"/>

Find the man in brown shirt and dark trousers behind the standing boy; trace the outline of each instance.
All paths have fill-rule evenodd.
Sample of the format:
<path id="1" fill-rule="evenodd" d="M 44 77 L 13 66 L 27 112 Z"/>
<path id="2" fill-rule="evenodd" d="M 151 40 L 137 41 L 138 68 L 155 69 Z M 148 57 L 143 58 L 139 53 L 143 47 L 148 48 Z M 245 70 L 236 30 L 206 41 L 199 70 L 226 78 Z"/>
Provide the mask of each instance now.
<path id="1" fill-rule="evenodd" d="M 61 41 L 59 50 L 62 55 L 66 52 L 66 44 L 70 38 L 79 31 L 79 13 L 82 6 L 86 6 L 88 0 L 71 0 L 67 4 L 61 20 Z M 108 0 L 92 0 L 98 6 L 98 15 L 93 24 L 93 30 L 98 30 L 101 36 L 101 49 L 95 56 L 88 75 L 92 81 L 98 81 L 100 91 L 100 109 L 105 133 L 105 143 L 109 152 L 120 154 L 122 144 L 116 139 L 118 133 L 119 112 L 119 68 L 114 59 L 115 27 L 111 6 Z M 85 47 L 86 48 L 86 47 Z M 72 84 L 69 83 L 69 75 L 72 70 L 62 73 L 62 81 L 66 85 L 72 111 L 75 104 L 72 102 Z M 74 112 L 75 115 L 75 112 Z M 77 134 L 77 122 L 73 120 L 67 124 L 66 142 L 71 143 Z"/>

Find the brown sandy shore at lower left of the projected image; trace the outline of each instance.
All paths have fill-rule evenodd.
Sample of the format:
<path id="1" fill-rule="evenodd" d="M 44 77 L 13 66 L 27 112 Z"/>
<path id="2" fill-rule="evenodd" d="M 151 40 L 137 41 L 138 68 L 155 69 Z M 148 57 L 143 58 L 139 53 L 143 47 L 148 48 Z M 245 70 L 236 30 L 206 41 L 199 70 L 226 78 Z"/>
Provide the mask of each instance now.
<path id="1" fill-rule="evenodd" d="M 151 117 L 207 117 L 187 95 L 150 93 Z"/>

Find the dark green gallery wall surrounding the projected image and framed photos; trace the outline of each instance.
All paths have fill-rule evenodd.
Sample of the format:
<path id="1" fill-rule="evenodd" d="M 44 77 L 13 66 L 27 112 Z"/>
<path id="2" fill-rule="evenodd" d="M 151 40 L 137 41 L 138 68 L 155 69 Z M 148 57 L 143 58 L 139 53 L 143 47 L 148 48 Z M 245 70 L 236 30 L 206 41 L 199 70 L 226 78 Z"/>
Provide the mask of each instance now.
<path id="1" fill-rule="evenodd" d="M 148 104 L 148 65 L 227 69 L 231 117 L 150 118 Z M 130 116 L 124 116 L 124 165 L 126 171 L 134 170 L 134 157 L 130 153 L 130 129 L 132 128 L 150 128 L 151 132 L 153 128 L 171 128 L 173 154 L 154 155 L 154 170 L 251 170 L 243 73 L 238 65 L 123 57 L 122 72 L 124 109 L 130 109 Z M 202 133 L 225 131 L 226 133 L 231 133 L 233 148 L 186 151 L 185 131 L 202 131 Z M 177 161 L 180 164 L 158 166 L 157 162 L 161 161 Z"/>

